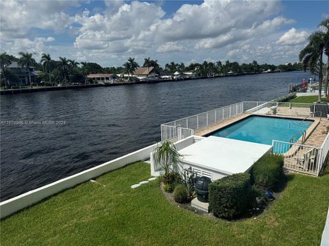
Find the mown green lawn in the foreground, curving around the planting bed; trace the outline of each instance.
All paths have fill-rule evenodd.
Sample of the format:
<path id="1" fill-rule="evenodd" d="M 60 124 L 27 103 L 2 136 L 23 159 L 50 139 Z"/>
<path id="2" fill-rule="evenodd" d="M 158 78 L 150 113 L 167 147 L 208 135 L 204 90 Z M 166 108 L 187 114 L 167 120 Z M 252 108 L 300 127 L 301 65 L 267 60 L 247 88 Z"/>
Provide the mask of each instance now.
<path id="1" fill-rule="evenodd" d="M 170 204 L 149 164 L 134 163 L 1 221 L 1 245 L 319 245 L 329 174 L 294 174 L 257 219 L 223 221 Z M 103 185 L 105 187 L 103 187 Z"/>

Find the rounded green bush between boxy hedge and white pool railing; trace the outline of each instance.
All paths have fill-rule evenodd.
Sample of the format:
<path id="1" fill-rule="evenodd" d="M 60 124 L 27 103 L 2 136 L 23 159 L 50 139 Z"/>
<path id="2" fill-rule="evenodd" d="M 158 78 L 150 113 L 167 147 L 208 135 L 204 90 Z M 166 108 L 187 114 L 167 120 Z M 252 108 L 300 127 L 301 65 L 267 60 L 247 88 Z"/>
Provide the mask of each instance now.
<path id="1" fill-rule="evenodd" d="M 278 154 L 265 154 L 252 170 L 252 183 L 264 189 L 276 189 L 284 180 L 283 157 Z"/>

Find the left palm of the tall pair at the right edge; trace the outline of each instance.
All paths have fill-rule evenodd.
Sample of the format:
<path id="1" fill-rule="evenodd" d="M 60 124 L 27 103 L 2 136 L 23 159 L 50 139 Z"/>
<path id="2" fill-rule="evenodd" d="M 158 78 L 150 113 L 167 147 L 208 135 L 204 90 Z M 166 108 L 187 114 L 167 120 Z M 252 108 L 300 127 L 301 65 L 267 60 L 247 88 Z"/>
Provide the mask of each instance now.
<path id="1" fill-rule="evenodd" d="M 322 92 L 322 66 L 323 66 L 323 53 L 324 53 L 325 41 L 324 33 L 321 31 L 315 31 L 308 37 L 308 44 L 302 51 L 300 51 L 300 61 L 304 70 L 310 68 L 310 72 L 315 72 L 317 65 L 319 64 L 319 95 L 317 98 L 318 102 L 321 102 Z"/>

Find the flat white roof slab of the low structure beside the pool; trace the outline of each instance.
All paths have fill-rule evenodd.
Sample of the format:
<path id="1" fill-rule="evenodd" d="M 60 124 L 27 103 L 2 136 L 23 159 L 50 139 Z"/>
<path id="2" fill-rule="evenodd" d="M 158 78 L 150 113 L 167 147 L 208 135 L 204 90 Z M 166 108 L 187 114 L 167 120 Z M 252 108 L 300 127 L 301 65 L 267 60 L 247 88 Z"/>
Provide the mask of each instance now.
<path id="1" fill-rule="evenodd" d="M 246 172 L 272 146 L 210 136 L 180 150 L 182 162 L 223 174 Z"/>

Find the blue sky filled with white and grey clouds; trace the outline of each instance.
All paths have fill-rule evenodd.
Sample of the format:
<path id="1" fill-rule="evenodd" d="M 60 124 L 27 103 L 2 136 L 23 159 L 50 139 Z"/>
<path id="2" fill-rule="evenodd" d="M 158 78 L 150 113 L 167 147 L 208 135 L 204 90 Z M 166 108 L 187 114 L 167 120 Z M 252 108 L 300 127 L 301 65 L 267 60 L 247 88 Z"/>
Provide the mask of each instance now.
<path id="1" fill-rule="evenodd" d="M 1 52 L 121 66 L 127 57 L 297 61 L 328 1 L 1 1 Z M 24 13 L 24 14 L 22 14 Z"/>

